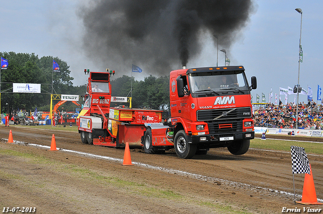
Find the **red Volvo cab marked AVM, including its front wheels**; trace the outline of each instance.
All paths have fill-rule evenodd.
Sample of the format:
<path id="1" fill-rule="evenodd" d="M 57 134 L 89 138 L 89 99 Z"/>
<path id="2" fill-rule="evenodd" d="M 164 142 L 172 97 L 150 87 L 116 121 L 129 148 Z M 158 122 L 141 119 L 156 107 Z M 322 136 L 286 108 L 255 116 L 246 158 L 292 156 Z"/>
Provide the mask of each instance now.
<path id="1" fill-rule="evenodd" d="M 179 69 L 170 75 L 171 122 L 179 157 L 228 147 L 242 155 L 254 138 L 250 90 L 243 66 Z M 181 131 L 182 130 L 182 131 Z M 185 133 L 185 134 L 184 134 Z"/>

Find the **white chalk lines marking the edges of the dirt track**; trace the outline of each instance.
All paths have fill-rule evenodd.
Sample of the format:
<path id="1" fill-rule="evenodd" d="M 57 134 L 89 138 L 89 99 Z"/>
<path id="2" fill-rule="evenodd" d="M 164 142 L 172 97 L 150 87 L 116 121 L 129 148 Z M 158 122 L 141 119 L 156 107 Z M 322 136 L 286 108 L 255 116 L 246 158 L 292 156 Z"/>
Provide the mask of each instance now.
<path id="1" fill-rule="evenodd" d="M 14 142 L 16 144 L 24 144 L 24 145 L 30 145 L 30 146 L 40 147 L 40 148 L 44 148 L 44 149 L 50 149 L 49 146 L 44 146 L 44 145 L 29 144 L 29 143 L 26 143 L 23 141 L 16 141 L 16 140 L 14 140 Z M 90 158 L 103 159 L 103 160 L 120 162 L 120 163 L 123 162 L 123 159 L 120 159 L 120 158 L 112 158 L 112 157 L 108 157 L 108 156 L 94 155 L 94 154 L 90 154 L 90 153 L 84 153 L 84 152 L 78 152 L 78 151 L 74 151 L 74 150 L 67 150 L 67 149 L 60 149 L 60 148 L 57 148 L 57 150 L 63 151 L 63 152 L 69 152 L 69 153 L 76 153 L 76 154 L 84 155 L 84 156 L 87 156 Z M 257 150 L 257 149 L 255 149 L 255 150 Z M 264 151 L 270 151 L 270 150 L 264 150 Z M 270 151 L 270 152 L 277 152 L 277 151 Z M 281 152 L 281 151 L 278 151 L 278 152 Z M 283 153 L 287 153 L 287 152 L 283 152 Z M 267 194 L 267 195 L 276 195 L 276 196 L 280 196 L 280 197 L 282 197 L 283 195 L 285 197 L 286 196 L 292 197 L 292 198 L 294 197 L 294 193 L 290 193 L 287 191 L 280 191 L 280 190 L 275 190 L 275 189 L 271 189 L 271 188 L 264 188 L 264 187 L 260 187 L 260 186 L 252 186 L 250 184 L 239 183 L 239 182 L 235 182 L 235 181 L 229 181 L 229 180 L 214 178 L 214 177 L 205 176 L 205 175 L 199 175 L 199 174 L 185 172 L 185 171 L 181 171 L 181 170 L 174 170 L 174 169 L 168 169 L 168 168 L 164 168 L 164 167 L 157 167 L 157 166 L 152 166 L 152 165 L 144 164 L 144 163 L 140 163 L 140 162 L 132 162 L 132 164 L 140 166 L 140 167 L 152 169 L 152 170 L 164 171 L 164 172 L 171 173 L 174 175 L 181 175 L 181 176 L 189 177 L 189 178 L 196 179 L 196 180 L 202 180 L 202 181 L 207 181 L 207 182 L 211 182 L 211 183 L 220 182 L 221 184 L 225 184 L 227 186 L 239 187 L 239 188 L 253 191 L 256 193 L 262 193 L 262 194 Z M 299 194 L 295 194 L 295 197 L 301 198 L 302 196 Z M 317 198 L 317 201 L 322 202 L 323 199 Z"/>

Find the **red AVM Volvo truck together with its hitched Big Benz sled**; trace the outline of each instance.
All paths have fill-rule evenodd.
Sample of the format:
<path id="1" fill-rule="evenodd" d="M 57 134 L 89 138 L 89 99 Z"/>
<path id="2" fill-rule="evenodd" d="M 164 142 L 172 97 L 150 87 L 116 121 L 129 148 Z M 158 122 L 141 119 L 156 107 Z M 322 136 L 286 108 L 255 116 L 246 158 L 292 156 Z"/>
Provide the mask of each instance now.
<path id="1" fill-rule="evenodd" d="M 109 93 L 91 91 L 93 77 L 91 73 L 88 99 L 111 99 L 111 87 Z M 79 132 L 83 142 L 123 147 L 127 141 L 148 154 L 175 148 L 178 157 L 188 159 L 227 147 L 233 155 L 242 155 L 254 138 L 250 91 L 256 88 L 256 77 L 249 86 L 243 66 L 173 70 L 170 123 L 161 123 L 161 111 L 109 108 L 107 101 L 89 101 L 78 118 Z"/>

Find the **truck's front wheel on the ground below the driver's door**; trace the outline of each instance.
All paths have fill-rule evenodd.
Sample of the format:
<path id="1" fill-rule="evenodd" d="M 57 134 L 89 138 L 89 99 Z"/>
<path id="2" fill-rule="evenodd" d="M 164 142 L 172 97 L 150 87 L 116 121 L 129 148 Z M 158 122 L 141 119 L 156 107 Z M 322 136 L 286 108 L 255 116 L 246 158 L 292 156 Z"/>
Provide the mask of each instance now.
<path id="1" fill-rule="evenodd" d="M 196 153 L 196 144 L 189 144 L 189 136 L 184 130 L 180 130 L 175 135 L 174 147 L 178 157 L 184 159 L 192 158 Z"/>

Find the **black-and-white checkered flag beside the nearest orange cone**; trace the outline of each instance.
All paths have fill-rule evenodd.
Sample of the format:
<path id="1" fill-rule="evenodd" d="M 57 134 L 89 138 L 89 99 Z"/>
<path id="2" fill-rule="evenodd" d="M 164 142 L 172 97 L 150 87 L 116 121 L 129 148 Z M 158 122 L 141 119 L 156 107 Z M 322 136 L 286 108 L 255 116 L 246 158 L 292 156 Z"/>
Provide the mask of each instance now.
<path id="1" fill-rule="evenodd" d="M 310 175 L 310 167 L 304 148 L 291 146 L 293 174 L 307 173 Z"/>

